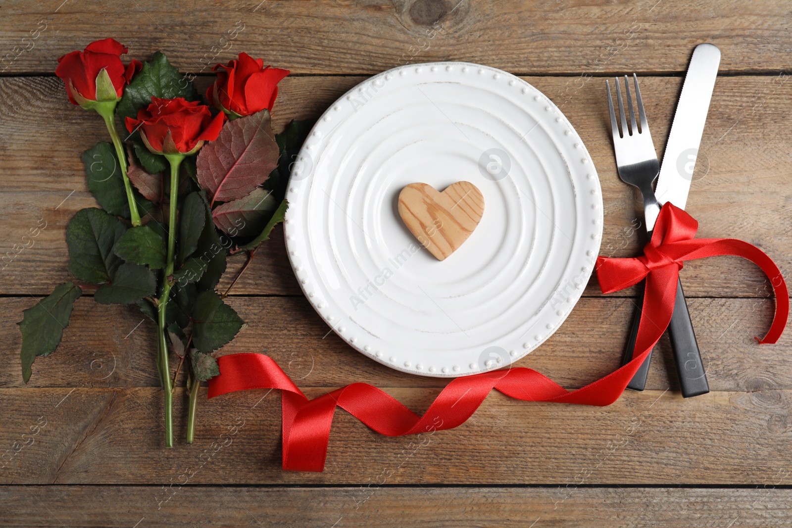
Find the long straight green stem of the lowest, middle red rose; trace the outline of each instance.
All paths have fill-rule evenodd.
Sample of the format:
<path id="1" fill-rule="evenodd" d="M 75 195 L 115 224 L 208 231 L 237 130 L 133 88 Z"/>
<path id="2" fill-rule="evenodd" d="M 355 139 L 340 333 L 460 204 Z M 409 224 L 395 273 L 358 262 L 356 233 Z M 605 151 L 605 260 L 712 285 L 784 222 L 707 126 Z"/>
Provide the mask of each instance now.
<path id="1" fill-rule="evenodd" d="M 166 313 L 170 289 L 173 287 L 173 255 L 176 253 L 176 204 L 179 196 L 179 165 L 185 158 L 184 154 L 165 154 L 170 163 L 170 203 L 168 206 L 168 255 L 165 264 L 165 281 L 162 285 L 157 310 L 157 340 L 159 375 L 162 380 L 162 389 L 165 391 L 165 445 L 173 447 L 173 385 L 170 382 L 170 367 L 168 364 L 168 343 L 166 332 L 168 323 Z"/>

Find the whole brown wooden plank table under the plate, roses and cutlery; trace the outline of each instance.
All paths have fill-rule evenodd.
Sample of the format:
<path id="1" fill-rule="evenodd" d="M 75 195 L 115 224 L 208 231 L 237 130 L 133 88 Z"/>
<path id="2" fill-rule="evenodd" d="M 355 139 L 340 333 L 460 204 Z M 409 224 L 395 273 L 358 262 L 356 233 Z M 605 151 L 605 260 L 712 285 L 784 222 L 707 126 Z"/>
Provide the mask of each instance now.
<path id="1" fill-rule="evenodd" d="M 2 253 L 47 224 L 0 274 L 0 448 L 24 445 L 3 459 L 0 525 L 790 526 L 792 332 L 775 346 L 755 343 L 774 302 L 759 270 L 736 257 L 682 271 L 709 394 L 683 400 L 664 339 L 642 393 L 605 408 L 492 393 L 466 424 L 414 453 L 413 438 L 383 437 L 339 411 L 324 473 L 280 469 L 280 397 L 265 391 L 202 400 L 196 443 L 182 443 L 177 420 L 179 443 L 166 449 L 154 327 L 136 309 L 85 295 L 28 385 L 15 324 L 69 276 L 66 224 L 95 204 L 80 154 L 106 139 L 97 116 L 67 101 L 56 59 L 107 36 L 135 59 L 164 51 L 198 74 L 201 92 L 211 82 L 204 65 L 239 51 L 289 68 L 276 130 L 318 116 L 400 63 L 463 60 L 523 76 L 562 108 L 592 154 L 604 193 L 602 253 L 610 256 L 638 251 L 640 210 L 616 176 L 604 78 L 642 76 L 662 154 L 691 51 L 714 43 L 721 76 L 688 210 L 699 236 L 749 241 L 787 271 L 790 2 L 61 2 L 0 6 L 0 51 L 10 54 L 0 78 Z M 242 25 L 231 49 L 215 56 L 224 32 Z M 32 49 L 14 57 L 36 28 Z M 230 259 L 226 284 L 242 260 Z M 445 384 L 383 367 L 328 333 L 295 283 L 280 230 L 234 291 L 230 302 L 249 325 L 223 353 L 265 351 L 311 397 L 363 381 L 423 412 Z M 517 364 L 568 388 L 614 370 L 635 293 L 603 296 L 592 281 L 565 325 Z M 183 389 L 176 401 L 184 416 Z M 242 423 L 231 443 L 218 443 Z M 31 443 L 22 435 L 36 424 Z"/>

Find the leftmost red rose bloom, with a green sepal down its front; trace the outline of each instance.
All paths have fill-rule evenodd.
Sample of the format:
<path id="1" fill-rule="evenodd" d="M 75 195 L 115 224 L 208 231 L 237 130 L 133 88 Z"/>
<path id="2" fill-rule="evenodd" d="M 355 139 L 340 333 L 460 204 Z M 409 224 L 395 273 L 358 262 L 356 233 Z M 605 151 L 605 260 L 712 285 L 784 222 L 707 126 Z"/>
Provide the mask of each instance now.
<path id="1" fill-rule="evenodd" d="M 143 67 L 137 60 L 124 66 L 120 57 L 127 51 L 116 40 L 105 39 L 88 44 L 85 51 L 72 51 L 58 59 L 55 75 L 66 83 L 69 101 L 81 106 L 93 101 L 117 101 L 124 93 L 124 85 Z"/>

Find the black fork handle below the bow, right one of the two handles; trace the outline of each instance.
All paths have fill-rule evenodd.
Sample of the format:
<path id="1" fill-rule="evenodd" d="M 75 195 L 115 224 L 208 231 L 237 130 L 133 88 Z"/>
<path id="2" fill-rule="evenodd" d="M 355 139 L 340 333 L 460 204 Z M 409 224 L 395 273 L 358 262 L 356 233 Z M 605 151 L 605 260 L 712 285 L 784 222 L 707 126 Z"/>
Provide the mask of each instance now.
<path id="1" fill-rule="evenodd" d="M 689 398 L 710 392 L 699 344 L 695 340 L 691 316 L 687 312 L 682 281 L 679 280 L 676 282 L 676 301 L 674 314 L 668 325 L 668 337 L 671 338 L 671 347 L 676 359 L 676 374 L 680 377 L 682 396 Z"/>

